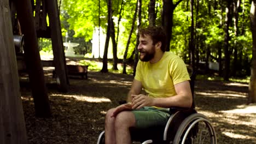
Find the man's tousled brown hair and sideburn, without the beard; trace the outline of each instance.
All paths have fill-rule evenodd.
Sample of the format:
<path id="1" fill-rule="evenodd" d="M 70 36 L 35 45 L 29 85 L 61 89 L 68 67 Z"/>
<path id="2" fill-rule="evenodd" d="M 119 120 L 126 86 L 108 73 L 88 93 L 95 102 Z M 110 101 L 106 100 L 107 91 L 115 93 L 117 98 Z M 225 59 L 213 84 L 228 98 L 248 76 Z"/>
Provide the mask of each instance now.
<path id="1" fill-rule="evenodd" d="M 153 40 L 153 45 L 161 42 L 161 50 L 162 52 L 166 51 L 166 34 L 161 27 L 147 27 L 139 29 L 139 35 L 144 37 L 145 35 L 149 35 Z"/>

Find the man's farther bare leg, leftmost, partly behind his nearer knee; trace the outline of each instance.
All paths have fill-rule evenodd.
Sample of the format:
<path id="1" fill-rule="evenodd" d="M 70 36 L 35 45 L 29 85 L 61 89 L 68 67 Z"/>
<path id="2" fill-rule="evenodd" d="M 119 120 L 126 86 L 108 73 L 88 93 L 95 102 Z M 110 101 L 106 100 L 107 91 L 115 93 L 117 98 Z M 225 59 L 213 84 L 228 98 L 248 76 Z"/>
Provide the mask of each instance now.
<path id="1" fill-rule="evenodd" d="M 108 110 L 105 118 L 105 143 L 115 144 L 115 117 L 111 117 L 114 109 Z"/>

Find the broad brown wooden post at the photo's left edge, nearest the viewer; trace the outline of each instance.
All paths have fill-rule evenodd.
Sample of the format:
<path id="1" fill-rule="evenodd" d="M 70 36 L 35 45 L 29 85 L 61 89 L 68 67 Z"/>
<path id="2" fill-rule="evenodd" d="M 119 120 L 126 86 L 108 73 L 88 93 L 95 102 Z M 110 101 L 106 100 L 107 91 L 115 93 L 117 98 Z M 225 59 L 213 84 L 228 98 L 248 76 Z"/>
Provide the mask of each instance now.
<path id="1" fill-rule="evenodd" d="M 27 143 L 9 1 L 0 1 L 0 143 Z"/>

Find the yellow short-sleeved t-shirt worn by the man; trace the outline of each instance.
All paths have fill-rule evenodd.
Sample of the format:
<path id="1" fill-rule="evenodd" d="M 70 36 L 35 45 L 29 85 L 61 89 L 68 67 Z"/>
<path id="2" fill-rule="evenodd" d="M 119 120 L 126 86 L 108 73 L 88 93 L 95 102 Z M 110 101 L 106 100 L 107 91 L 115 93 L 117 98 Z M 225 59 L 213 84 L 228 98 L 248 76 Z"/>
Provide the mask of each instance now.
<path id="1" fill-rule="evenodd" d="M 142 82 L 144 91 L 153 98 L 176 95 L 174 85 L 190 80 L 183 60 L 171 52 L 165 52 L 159 62 L 139 61 L 135 79 Z"/>

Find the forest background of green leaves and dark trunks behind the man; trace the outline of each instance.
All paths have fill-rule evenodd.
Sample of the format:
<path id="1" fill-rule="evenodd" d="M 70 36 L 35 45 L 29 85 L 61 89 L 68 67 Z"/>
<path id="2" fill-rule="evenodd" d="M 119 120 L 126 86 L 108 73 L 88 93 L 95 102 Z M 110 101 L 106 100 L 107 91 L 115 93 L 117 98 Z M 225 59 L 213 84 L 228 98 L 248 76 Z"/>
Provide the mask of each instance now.
<path id="1" fill-rule="evenodd" d="M 92 35 L 98 29 L 106 34 L 102 72 L 108 63 L 114 70 L 138 61 L 137 29 L 162 26 L 167 34 L 167 51 L 182 57 L 193 70 L 211 74 L 209 63 L 217 63 L 214 72 L 222 80 L 241 77 L 249 82 L 253 59 L 249 0 L 59 0 L 62 37 L 80 45 L 77 54 L 92 57 Z M 109 45 L 109 41 L 112 41 Z M 101 39 L 98 40 L 101 43 Z M 100 45 L 100 44 L 99 44 Z M 40 38 L 39 47 L 51 51 L 51 41 Z M 110 49 L 112 48 L 112 49 Z M 108 52 L 113 53 L 111 61 Z M 118 62 L 123 68 L 118 68 Z M 88 64 L 88 63 L 85 63 Z M 90 65 L 90 63 L 89 63 Z M 216 71 L 217 70 L 217 71 Z M 128 73 L 132 73 L 128 71 Z"/>

